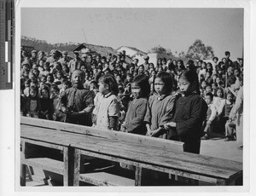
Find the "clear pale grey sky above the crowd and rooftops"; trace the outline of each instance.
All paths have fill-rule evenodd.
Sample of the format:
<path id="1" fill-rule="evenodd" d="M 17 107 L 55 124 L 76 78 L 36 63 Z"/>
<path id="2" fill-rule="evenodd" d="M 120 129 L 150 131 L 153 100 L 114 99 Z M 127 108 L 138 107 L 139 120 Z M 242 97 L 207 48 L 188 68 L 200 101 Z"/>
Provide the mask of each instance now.
<path id="1" fill-rule="evenodd" d="M 179 53 L 195 39 L 214 54 L 242 56 L 243 9 L 177 8 L 22 8 L 21 35 L 49 43 L 131 46 L 148 52 L 155 46 Z M 85 34 L 85 37 L 84 37 Z"/>

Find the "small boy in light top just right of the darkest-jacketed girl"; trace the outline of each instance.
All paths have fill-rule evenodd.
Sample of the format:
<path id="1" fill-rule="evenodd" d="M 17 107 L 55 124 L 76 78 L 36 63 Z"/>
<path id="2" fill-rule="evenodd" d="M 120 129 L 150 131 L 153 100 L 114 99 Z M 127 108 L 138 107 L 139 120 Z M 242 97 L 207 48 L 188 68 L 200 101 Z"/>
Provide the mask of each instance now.
<path id="1" fill-rule="evenodd" d="M 204 135 L 201 137 L 201 140 L 207 140 L 209 138 L 209 135 L 212 133 L 212 128 L 213 128 L 213 120 L 215 119 L 217 115 L 217 111 L 215 107 L 212 104 L 213 101 L 213 95 L 212 93 L 207 93 L 206 95 L 206 102 L 208 105 L 208 110 L 207 110 L 207 119 L 204 122 Z"/>

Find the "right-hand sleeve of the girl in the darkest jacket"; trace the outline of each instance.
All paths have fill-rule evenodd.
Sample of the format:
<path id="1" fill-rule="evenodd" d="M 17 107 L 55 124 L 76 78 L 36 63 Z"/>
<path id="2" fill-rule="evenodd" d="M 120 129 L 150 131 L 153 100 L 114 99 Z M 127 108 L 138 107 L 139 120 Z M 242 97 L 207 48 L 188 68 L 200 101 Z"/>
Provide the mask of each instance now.
<path id="1" fill-rule="evenodd" d="M 201 97 L 193 100 L 190 103 L 190 107 L 192 107 L 190 117 L 176 124 L 178 136 L 187 135 L 189 130 L 198 124 L 201 118 L 205 118 L 207 115 L 207 103 Z"/>

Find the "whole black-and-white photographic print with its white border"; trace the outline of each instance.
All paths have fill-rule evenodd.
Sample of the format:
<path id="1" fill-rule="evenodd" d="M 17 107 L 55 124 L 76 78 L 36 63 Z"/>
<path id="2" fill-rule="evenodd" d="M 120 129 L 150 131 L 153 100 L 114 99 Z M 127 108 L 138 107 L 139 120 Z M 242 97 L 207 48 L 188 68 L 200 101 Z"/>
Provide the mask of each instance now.
<path id="1" fill-rule="evenodd" d="M 16 5 L 17 190 L 249 189 L 246 0 L 31 2 Z"/>

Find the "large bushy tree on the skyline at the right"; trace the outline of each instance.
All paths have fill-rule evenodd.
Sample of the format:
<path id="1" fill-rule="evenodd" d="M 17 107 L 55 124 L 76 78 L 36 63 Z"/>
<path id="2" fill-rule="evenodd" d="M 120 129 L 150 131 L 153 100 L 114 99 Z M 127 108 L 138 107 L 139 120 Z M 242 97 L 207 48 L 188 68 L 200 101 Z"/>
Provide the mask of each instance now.
<path id="1" fill-rule="evenodd" d="M 206 46 L 200 39 L 196 39 L 195 43 L 189 46 L 186 58 L 196 60 L 212 59 L 214 52 L 212 46 Z"/>

